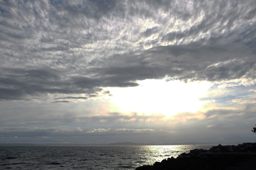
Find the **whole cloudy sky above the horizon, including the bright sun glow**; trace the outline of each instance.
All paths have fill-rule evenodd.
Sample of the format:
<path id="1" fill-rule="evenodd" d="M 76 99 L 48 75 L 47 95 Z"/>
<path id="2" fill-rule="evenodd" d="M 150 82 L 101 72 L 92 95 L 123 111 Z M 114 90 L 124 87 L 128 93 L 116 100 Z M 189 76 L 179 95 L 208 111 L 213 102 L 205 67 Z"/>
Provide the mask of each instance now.
<path id="1" fill-rule="evenodd" d="M 0 0 L 0 143 L 255 142 L 254 0 Z"/>

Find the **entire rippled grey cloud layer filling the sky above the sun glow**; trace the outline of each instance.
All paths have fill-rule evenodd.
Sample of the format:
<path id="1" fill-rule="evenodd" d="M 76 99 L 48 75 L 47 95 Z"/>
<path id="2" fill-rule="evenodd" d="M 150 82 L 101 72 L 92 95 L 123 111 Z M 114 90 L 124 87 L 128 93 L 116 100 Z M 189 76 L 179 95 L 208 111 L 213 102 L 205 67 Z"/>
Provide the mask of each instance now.
<path id="1" fill-rule="evenodd" d="M 253 80 L 253 4 L 2 1 L 0 99 L 86 99 L 165 76 Z"/>

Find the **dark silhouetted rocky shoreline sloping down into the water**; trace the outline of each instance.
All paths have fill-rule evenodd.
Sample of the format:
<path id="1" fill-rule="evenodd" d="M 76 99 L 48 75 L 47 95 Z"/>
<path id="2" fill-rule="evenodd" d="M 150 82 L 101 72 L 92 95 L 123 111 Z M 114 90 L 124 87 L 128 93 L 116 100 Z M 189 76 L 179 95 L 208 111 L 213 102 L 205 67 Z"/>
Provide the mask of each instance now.
<path id="1" fill-rule="evenodd" d="M 203 153 L 203 154 L 202 154 Z M 207 155 L 207 153 L 210 153 Z M 218 153 L 216 156 L 212 156 Z M 223 155 L 221 155 L 223 153 Z M 241 153 L 232 155 L 227 153 Z M 153 165 L 143 165 L 137 167 L 135 170 L 219 170 L 226 169 L 230 166 L 238 166 L 240 162 L 247 161 L 251 158 L 243 153 L 256 153 L 256 143 L 243 143 L 234 145 L 218 145 L 213 146 L 209 150 L 194 149 L 189 153 L 182 153 L 177 158 L 163 159 L 161 162 L 155 162 Z M 226 155 L 225 155 L 226 154 Z M 246 156 L 244 156 L 246 155 Z M 253 154 L 252 154 L 253 155 Z M 255 155 L 255 154 L 254 154 Z M 256 165 L 255 165 L 256 166 Z M 256 168 L 255 168 L 256 169 Z"/>

